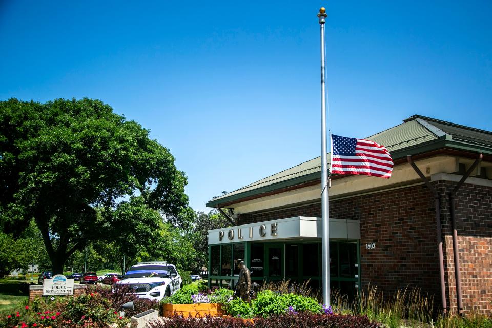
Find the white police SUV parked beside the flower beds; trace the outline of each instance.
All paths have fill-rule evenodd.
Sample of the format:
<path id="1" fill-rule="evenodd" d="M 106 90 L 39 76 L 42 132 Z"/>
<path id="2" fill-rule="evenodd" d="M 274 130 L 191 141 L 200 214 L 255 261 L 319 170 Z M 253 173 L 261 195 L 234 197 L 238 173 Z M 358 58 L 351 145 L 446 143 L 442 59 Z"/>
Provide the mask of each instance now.
<path id="1" fill-rule="evenodd" d="M 139 262 L 114 284 L 128 285 L 139 298 L 160 301 L 183 286 L 183 280 L 173 264 L 166 262 Z"/>

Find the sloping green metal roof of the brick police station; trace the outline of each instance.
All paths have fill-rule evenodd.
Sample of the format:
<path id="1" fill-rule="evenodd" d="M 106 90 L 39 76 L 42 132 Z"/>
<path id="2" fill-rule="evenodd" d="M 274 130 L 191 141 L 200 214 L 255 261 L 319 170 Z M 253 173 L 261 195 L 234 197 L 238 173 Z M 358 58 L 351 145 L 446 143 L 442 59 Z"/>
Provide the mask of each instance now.
<path id="1" fill-rule="evenodd" d="M 384 145 L 393 160 L 442 148 L 480 151 L 492 155 L 492 132 L 420 115 L 413 115 L 403 120 L 402 124 L 365 139 Z M 216 197 L 206 206 L 215 207 L 223 203 L 240 201 L 245 197 L 295 186 L 320 177 L 321 156 Z"/>

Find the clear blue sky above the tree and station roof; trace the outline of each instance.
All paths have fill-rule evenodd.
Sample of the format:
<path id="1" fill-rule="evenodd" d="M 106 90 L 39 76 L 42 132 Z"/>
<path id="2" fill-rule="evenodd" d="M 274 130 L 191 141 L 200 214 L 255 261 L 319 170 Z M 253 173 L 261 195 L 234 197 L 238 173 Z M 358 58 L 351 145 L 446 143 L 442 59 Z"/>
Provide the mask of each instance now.
<path id="1" fill-rule="evenodd" d="M 151 130 L 195 210 L 413 114 L 492 130 L 492 2 L 0 0 L 0 99 L 97 98 Z"/>

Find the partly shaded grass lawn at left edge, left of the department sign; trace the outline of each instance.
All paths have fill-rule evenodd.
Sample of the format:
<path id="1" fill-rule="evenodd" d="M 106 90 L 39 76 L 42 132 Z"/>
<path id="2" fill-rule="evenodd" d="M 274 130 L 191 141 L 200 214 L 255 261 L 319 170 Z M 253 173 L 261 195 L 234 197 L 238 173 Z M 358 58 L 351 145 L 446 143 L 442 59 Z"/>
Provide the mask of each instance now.
<path id="1" fill-rule="evenodd" d="M 0 279 L 0 313 L 10 313 L 27 303 L 29 283 Z"/>

